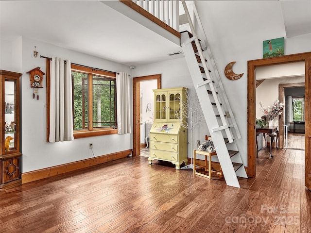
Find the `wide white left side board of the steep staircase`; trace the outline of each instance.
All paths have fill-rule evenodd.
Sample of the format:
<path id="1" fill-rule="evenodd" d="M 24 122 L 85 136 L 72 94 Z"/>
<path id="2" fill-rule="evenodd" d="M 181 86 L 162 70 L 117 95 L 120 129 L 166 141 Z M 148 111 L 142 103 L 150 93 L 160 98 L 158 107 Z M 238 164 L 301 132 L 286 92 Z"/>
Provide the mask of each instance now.
<path id="1" fill-rule="evenodd" d="M 214 113 L 213 106 L 209 97 L 207 95 L 207 88 L 205 85 L 213 85 L 212 83 L 207 83 L 202 86 L 198 86 L 197 83 L 202 83 L 202 74 L 198 63 L 195 58 L 195 53 L 193 51 L 191 43 L 185 44 L 189 40 L 188 33 L 181 33 L 181 45 L 186 58 L 186 62 L 190 71 L 192 82 L 196 90 L 206 123 L 209 129 L 210 136 L 213 139 L 214 147 L 217 152 L 217 157 L 222 167 L 222 171 L 225 177 L 225 182 L 229 186 L 234 186 L 240 188 L 240 183 L 238 181 L 237 175 L 235 173 L 234 167 L 232 165 L 229 152 L 225 145 L 225 139 L 221 130 L 215 131 L 220 126 L 218 124 L 217 118 Z M 199 49 L 199 48 L 198 48 Z M 208 100 L 207 100 L 208 98 Z M 228 129 L 227 125 L 222 126 Z M 242 166 L 244 169 L 244 166 Z M 241 169 L 241 168 L 240 168 Z M 245 170 L 245 169 L 244 169 Z"/>

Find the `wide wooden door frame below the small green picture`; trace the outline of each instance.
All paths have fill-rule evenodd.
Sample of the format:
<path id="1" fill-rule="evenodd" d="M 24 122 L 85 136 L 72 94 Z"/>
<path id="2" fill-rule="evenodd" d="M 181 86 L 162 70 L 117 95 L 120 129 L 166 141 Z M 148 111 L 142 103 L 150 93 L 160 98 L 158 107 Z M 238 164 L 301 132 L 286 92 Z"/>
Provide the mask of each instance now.
<path id="1" fill-rule="evenodd" d="M 273 58 L 265 58 L 265 59 L 258 59 L 258 60 L 252 60 L 248 61 L 248 75 L 247 75 L 247 158 L 248 158 L 248 165 L 247 165 L 247 175 L 248 177 L 255 177 L 256 176 L 256 67 L 262 67 L 262 66 L 271 66 L 271 65 L 278 65 L 278 64 L 287 64 L 287 63 L 293 63 L 293 62 L 299 62 L 304 61 L 305 62 L 305 93 L 306 98 L 309 100 L 309 79 L 311 75 L 311 71 L 309 70 L 311 66 L 311 52 L 306 53 L 298 53 L 293 55 L 285 55 L 280 57 L 273 57 Z M 306 122 L 309 122 L 309 116 L 308 116 L 308 109 L 309 109 L 309 102 L 307 102 L 307 106 L 305 109 L 305 116 L 306 116 Z M 306 124 L 306 138 L 309 137 L 308 134 L 308 124 Z M 311 161 L 311 155 L 309 153 L 308 140 L 306 139 L 306 186 L 309 187 L 309 177 L 311 180 L 311 168 L 308 166 L 308 161 Z M 310 183 L 311 184 L 311 183 Z"/>

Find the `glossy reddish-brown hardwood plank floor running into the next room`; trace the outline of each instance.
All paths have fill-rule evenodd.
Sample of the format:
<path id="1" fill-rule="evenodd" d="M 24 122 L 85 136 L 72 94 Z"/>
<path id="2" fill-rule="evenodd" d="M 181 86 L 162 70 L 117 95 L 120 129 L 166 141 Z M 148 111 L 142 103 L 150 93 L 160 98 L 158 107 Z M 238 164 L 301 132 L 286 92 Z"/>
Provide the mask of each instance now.
<path id="1" fill-rule="evenodd" d="M 22 184 L 0 192 L 0 232 L 310 233 L 304 151 L 273 154 L 240 189 L 143 156 Z"/>

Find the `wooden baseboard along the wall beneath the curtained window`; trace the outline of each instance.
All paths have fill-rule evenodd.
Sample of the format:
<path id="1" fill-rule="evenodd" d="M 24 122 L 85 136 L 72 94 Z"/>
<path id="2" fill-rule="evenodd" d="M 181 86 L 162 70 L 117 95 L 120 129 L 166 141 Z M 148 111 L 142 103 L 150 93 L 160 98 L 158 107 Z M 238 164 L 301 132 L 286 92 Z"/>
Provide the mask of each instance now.
<path id="1" fill-rule="evenodd" d="M 131 154 L 132 150 L 123 150 L 111 154 L 106 154 L 102 156 L 98 156 L 95 158 L 80 160 L 68 164 L 62 164 L 58 166 L 47 167 L 35 171 L 29 171 L 21 174 L 21 182 L 29 183 L 37 180 L 41 180 L 44 178 L 48 178 L 51 176 L 56 176 L 60 174 L 64 174 L 70 171 L 79 170 L 86 167 L 95 166 L 98 164 L 104 164 L 109 161 L 117 160 L 120 158 L 125 158 L 129 154 Z"/>

